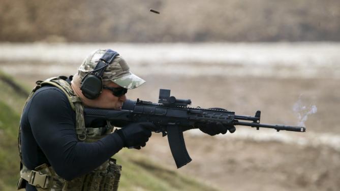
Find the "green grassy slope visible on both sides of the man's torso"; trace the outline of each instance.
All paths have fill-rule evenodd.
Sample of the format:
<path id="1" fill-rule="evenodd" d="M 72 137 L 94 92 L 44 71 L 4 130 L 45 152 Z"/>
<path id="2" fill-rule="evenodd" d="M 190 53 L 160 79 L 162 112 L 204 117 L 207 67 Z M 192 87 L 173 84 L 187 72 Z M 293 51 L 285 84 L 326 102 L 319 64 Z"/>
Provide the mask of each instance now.
<path id="1" fill-rule="evenodd" d="M 11 80 L 1 71 L 0 77 Z M 26 97 L 16 94 L 1 78 L 0 88 L 3 90 L 0 94 L 0 190 L 12 191 L 19 178 L 17 131 Z M 123 149 L 114 158 L 122 165 L 119 190 L 216 190 L 154 163 L 134 150 Z"/>

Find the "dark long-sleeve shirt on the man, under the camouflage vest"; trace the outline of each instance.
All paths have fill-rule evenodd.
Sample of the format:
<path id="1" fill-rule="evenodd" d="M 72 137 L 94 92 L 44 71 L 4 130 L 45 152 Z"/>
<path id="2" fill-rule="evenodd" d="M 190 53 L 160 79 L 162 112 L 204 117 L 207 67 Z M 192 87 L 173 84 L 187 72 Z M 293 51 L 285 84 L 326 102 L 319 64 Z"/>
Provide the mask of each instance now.
<path id="1" fill-rule="evenodd" d="M 23 164 L 33 170 L 46 163 L 71 180 L 94 170 L 123 147 L 117 133 L 97 142 L 78 141 L 75 122 L 75 111 L 63 91 L 49 85 L 37 90 L 20 120 Z M 26 183 L 26 190 L 36 188 Z"/>

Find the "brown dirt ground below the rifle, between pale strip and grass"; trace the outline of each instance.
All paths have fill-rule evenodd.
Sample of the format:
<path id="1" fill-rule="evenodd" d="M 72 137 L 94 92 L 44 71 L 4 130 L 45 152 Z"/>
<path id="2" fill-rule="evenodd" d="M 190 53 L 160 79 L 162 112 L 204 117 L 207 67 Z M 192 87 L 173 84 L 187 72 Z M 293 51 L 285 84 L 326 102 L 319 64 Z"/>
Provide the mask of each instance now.
<path id="1" fill-rule="evenodd" d="M 180 172 L 221 190 L 338 190 L 340 153 L 329 147 L 186 135 L 193 161 Z M 175 169 L 168 141 L 154 135 L 140 152 Z"/>

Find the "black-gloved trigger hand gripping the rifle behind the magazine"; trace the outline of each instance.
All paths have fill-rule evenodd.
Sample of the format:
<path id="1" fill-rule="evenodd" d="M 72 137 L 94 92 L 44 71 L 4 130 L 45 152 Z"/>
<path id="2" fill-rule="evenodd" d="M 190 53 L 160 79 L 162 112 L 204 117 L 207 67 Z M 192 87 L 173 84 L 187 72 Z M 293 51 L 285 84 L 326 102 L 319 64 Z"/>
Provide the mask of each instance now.
<path id="1" fill-rule="evenodd" d="M 151 137 L 152 129 L 156 129 L 153 123 L 140 122 L 129 124 L 115 132 L 121 137 L 125 147 L 140 149 Z"/>

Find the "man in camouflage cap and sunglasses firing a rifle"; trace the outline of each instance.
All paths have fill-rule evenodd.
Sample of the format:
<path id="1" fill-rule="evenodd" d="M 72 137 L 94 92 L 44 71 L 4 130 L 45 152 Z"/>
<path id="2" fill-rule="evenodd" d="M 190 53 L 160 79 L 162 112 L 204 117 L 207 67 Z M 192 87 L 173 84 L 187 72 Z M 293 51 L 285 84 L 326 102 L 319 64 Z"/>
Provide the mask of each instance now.
<path id="1" fill-rule="evenodd" d="M 143 83 L 110 49 L 88 55 L 73 77 L 38 81 L 20 120 L 18 189 L 117 190 L 121 167 L 111 157 L 123 147 L 145 146 L 155 127 L 134 123 L 112 132 L 105 121 L 86 124 L 83 107 L 121 109 L 128 89 Z M 210 135 L 227 129 L 201 128 Z"/>

